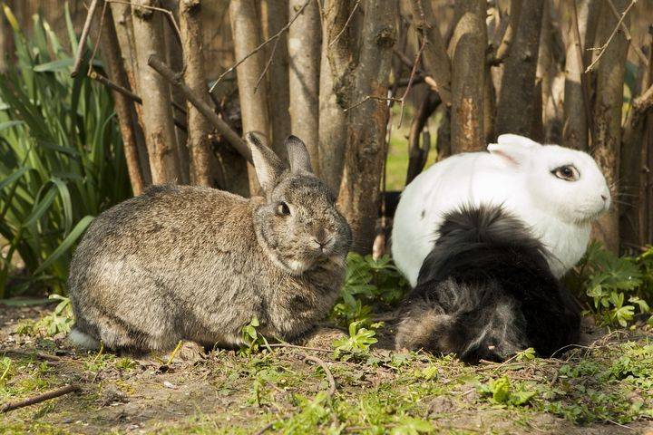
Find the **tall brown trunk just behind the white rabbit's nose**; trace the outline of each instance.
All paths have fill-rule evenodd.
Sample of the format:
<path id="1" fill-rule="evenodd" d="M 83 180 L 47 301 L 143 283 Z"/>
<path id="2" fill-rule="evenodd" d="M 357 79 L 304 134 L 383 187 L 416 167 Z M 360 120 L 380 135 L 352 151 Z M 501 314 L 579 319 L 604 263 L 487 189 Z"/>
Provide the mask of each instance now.
<path id="1" fill-rule="evenodd" d="M 629 0 L 614 0 L 619 11 L 624 11 L 629 3 Z M 601 43 L 608 41 L 617 22 L 617 18 L 611 11 L 607 7 L 603 8 L 599 27 Z M 628 16 L 623 23 L 629 26 Z M 594 158 L 603 169 L 613 198 L 609 212 L 599 218 L 594 229 L 595 236 L 613 252 L 619 251 L 619 186 L 617 177 L 621 146 L 621 106 L 628 48 L 629 43 L 622 32 L 615 34 L 608 44 L 605 53 L 599 60 L 594 105 Z"/>

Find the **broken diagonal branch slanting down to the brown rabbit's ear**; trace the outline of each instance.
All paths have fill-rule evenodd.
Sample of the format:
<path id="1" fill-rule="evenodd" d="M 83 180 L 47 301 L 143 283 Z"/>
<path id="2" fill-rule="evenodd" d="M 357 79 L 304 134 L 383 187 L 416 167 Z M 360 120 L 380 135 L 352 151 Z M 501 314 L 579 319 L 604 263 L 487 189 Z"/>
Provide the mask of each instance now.
<path id="1" fill-rule="evenodd" d="M 233 147 L 234 150 L 237 150 L 245 160 L 248 160 L 249 162 L 252 161 L 251 152 L 249 151 L 245 141 L 240 139 L 238 133 L 233 131 L 227 122 L 220 119 L 216 112 L 211 109 L 209 104 L 204 102 L 200 95 L 191 90 L 188 85 L 186 85 L 186 83 L 181 80 L 179 73 L 173 72 L 170 66 L 162 63 L 156 54 L 152 54 L 150 56 L 148 59 L 148 65 L 150 65 L 154 71 L 160 73 L 161 77 L 163 77 L 165 80 L 179 87 L 181 93 L 184 94 L 186 99 L 193 106 L 195 106 L 197 110 L 200 111 L 200 113 L 204 115 L 208 121 L 210 121 L 211 124 L 213 124 L 219 134 L 224 136 L 224 138 L 229 142 L 231 147 Z"/>

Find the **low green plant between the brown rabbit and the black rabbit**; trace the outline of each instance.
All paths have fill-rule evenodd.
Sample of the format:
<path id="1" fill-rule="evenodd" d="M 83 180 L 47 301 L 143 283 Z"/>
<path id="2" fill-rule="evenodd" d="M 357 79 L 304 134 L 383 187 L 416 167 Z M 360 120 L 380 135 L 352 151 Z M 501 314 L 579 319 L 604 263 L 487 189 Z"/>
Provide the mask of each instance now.
<path id="1" fill-rule="evenodd" d="M 365 321 L 373 311 L 397 304 L 408 289 L 408 283 L 389 256 L 375 260 L 372 256 L 349 253 L 345 284 L 331 316 L 344 326 Z"/>

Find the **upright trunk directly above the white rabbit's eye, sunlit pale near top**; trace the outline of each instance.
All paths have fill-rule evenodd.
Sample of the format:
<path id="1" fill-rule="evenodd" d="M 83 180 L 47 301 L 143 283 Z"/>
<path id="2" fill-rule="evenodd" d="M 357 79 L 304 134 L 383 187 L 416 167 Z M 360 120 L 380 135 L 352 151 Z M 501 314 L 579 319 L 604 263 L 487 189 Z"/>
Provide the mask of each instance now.
<path id="1" fill-rule="evenodd" d="M 573 0 L 575 1 L 575 0 Z M 568 25 L 565 26 L 568 41 L 565 61 L 564 115 L 562 125 L 562 143 L 576 150 L 588 150 L 588 119 L 590 102 L 587 101 L 587 78 L 584 76 L 586 57 L 583 41 L 594 40 L 599 15 L 591 11 L 598 8 L 599 0 L 580 0 L 577 6 L 563 2 L 566 6 Z M 574 11 L 574 7 L 576 11 Z M 578 34 L 574 17 L 578 19 Z M 593 20 L 593 22 L 590 22 Z M 592 30 L 593 29 L 593 30 Z M 580 40 L 579 40 L 580 38 Z M 587 46 L 587 45 L 585 45 Z"/>

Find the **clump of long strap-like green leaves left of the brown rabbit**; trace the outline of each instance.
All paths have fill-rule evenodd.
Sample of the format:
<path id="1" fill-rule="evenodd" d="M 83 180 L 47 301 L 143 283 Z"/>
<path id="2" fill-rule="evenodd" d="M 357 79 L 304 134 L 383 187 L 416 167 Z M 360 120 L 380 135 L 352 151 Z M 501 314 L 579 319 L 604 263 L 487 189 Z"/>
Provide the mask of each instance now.
<path id="1" fill-rule="evenodd" d="M 93 216 L 131 194 L 122 139 L 110 93 L 84 74 L 70 77 L 77 39 L 67 4 L 68 49 L 38 15 L 26 36 L 3 8 L 16 63 L 0 76 L 0 298 L 34 283 L 65 295 L 75 242 Z M 8 288 L 18 256 L 29 277 Z"/>

